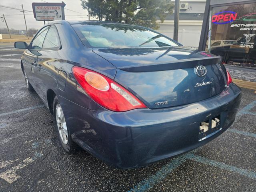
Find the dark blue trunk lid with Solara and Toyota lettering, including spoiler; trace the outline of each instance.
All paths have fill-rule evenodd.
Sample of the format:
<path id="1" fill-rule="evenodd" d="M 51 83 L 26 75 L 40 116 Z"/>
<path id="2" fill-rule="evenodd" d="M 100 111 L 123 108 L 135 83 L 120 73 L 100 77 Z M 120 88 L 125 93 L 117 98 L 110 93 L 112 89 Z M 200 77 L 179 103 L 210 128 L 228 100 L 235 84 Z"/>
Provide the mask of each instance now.
<path id="1" fill-rule="evenodd" d="M 220 57 L 185 47 L 93 50 L 118 68 L 115 81 L 149 108 L 198 102 L 226 87 Z M 196 67 L 206 68 L 197 74 Z"/>

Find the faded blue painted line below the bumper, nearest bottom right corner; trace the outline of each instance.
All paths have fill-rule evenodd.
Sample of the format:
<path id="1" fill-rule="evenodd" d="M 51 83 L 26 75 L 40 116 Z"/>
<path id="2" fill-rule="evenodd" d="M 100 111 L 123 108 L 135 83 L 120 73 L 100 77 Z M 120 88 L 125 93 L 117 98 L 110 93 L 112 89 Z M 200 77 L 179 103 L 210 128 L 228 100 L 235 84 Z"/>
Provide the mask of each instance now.
<path id="1" fill-rule="evenodd" d="M 188 158 L 190 160 L 194 160 L 196 162 L 200 162 L 202 164 L 207 164 L 207 165 L 214 166 L 214 167 L 217 167 L 220 169 L 235 172 L 237 174 L 244 175 L 248 178 L 256 179 L 256 172 L 253 172 L 253 171 L 247 171 L 242 168 L 237 168 L 235 166 L 228 165 L 228 164 L 218 162 L 218 161 L 214 161 L 214 160 L 211 160 L 211 159 L 199 156 L 199 155 L 195 155 L 195 154 L 186 154 L 186 158 Z"/>

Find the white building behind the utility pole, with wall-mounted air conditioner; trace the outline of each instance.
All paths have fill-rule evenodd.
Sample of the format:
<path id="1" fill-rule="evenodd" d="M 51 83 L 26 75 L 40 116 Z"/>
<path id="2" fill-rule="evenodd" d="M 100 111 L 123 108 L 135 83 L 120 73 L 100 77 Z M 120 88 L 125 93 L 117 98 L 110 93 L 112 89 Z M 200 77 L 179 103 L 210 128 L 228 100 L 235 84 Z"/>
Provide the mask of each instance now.
<path id="1" fill-rule="evenodd" d="M 175 0 L 171 0 L 175 3 Z M 180 0 L 178 42 L 185 46 L 198 47 L 206 0 Z M 173 10 L 174 12 L 174 10 Z M 160 21 L 159 21 L 160 22 Z M 173 38 L 174 14 L 168 14 L 156 31 Z"/>

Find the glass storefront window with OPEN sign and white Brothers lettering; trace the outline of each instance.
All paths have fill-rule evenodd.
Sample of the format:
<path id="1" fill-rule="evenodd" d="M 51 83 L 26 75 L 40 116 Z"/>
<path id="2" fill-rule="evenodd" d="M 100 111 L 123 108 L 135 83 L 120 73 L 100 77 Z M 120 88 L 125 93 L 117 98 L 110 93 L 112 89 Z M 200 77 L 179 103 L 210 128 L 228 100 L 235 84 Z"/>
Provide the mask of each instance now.
<path id="1" fill-rule="evenodd" d="M 256 68 L 256 3 L 212 7 L 210 15 L 205 50 L 224 64 Z"/>

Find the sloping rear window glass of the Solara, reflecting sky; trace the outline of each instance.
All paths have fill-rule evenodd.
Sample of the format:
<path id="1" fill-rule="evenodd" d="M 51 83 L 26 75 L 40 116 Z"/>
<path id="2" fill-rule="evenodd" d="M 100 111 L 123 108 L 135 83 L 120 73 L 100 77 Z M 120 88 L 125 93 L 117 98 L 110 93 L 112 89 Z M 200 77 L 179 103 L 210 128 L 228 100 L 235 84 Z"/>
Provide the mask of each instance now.
<path id="1" fill-rule="evenodd" d="M 123 24 L 72 24 L 85 46 L 90 48 L 132 48 L 179 46 L 145 28 Z"/>

